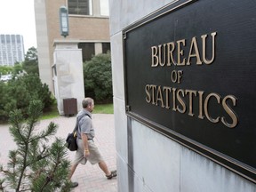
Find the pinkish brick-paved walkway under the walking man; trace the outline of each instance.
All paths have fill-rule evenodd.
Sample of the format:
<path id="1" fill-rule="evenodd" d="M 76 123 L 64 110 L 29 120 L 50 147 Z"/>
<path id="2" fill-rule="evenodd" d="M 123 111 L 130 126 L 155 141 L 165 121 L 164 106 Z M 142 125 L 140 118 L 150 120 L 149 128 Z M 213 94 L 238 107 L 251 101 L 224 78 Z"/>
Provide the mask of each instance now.
<path id="1" fill-rule="evenodd" d="M 68 132 L 72 132 L 76 117 L 59 116 L 49 120 L 42 120 L 38 127 L 44 128 L 50 122 L 59 124 L 57 137 L 66 139 Z M 94 142 L 100 148 L 102 156 L 104 156 L 109 170 L 116 170 L 116 143 L 114 115 L 93 114 L 92 122 L 95 127 L 96 137 Z M 8 152 L 15 148 L 15 143 L 9 133 L 8 124 L 0 124 L 0 164 L 8 162 Z M 73 160 L 76 152 L 68 152 L 70 161 Z M 73 181 L 77 181 L 79 186 L 74 188 L 72 192 L 116 192 L 117 180 L 107 180 L 104 173 L 98 165 L 88 163 L 86 165 L 79 164 L 76 172 L 72 177 Z"/>

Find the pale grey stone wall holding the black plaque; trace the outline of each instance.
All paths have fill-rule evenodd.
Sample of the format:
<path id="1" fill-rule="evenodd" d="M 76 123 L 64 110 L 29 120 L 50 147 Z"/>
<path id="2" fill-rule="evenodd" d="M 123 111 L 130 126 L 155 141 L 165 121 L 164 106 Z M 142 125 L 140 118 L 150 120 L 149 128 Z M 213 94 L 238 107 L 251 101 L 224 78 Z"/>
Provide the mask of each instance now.
<path id="1" fill-rule="evenodd" d="M 172 1 L 110 0 L 119 192 L 255 192 L 255 184 L 125 115 L 122 30 Z"/>

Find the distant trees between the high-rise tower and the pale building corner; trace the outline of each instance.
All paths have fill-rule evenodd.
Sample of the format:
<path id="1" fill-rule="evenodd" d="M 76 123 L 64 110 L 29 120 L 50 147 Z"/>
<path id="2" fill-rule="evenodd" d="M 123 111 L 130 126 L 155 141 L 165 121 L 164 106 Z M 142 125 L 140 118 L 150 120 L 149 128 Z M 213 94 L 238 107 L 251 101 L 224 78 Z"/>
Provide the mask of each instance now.
<path id="1" fill-rule="evenodd" d="M 38 57 L 35 47 L 30 47 L 28 49 L 28 52 L 25 55 L 25 60 L 22 63 L 22 67 L 28 74 L 39 75 Z"/>

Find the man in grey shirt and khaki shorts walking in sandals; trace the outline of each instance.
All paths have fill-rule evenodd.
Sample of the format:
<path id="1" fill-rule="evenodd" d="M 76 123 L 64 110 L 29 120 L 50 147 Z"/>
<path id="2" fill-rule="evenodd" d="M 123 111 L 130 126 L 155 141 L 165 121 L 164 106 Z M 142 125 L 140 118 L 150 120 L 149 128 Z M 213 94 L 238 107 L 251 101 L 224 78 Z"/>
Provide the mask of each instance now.
<path id="1" fill-rule="evenodd" d="M 85 98 L 82 101 L 83 109 L 77 114 L 76 121 L 78 122 L 77 129 L 77 150 L 75 160 L 71 166 L 69 180 L 76 171 L 78 164 L 86 164 L 87 160 L 91 164 L 99 164 L 100 169 L 105 173 L 108 180 L 116 177 L 116 171 L 109 172 L 108 165 L 100 155 L 100 151 L 95 145 L 93 138 L 95 136 L 94 128 L 92 126 L 92 111 L 94 108 L 94 100 L 92 98 Z M 72 182 L 72 188 L 78 186 L 77 182 Z"/>

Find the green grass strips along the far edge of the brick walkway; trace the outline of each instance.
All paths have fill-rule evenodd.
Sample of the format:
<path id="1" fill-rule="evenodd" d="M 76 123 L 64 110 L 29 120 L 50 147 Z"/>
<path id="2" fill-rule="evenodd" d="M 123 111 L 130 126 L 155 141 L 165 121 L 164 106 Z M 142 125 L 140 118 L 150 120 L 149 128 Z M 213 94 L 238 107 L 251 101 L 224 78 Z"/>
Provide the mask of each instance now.
<path id="1" fill-rule="evenodd" d="M 114 108 L 113 108 L 113 104 L 96 104 L 94 107 L 94 110 L 92 112 L 92 114 L 114 114 Z M 60 116 L 59 115 L 59 111 L 57 108 L 57 105 L 55 104 L 52 107 L 52 110 L 50 112 L 44 113 L 44 115 L 42 116 L 42 120 L 43 119 L 50 119 L 56 116 Z"/>

